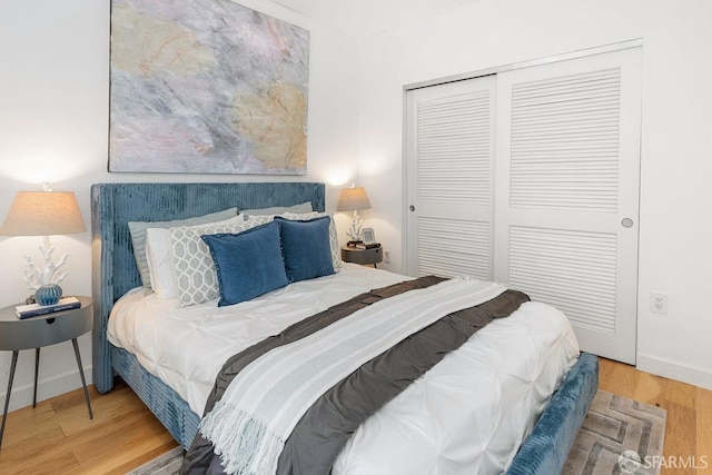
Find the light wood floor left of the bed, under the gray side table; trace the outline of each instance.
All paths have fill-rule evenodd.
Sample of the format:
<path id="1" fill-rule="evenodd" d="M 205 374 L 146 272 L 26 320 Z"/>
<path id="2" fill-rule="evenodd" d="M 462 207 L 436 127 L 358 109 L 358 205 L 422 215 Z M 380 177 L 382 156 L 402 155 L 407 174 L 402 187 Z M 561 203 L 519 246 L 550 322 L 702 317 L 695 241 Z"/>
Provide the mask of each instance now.
<path id="1" fill-rule="evenodd" d="M 8 414 L 0 474 L 123 474 L 178 444 L 123 383 L 90 386 Z"/>

